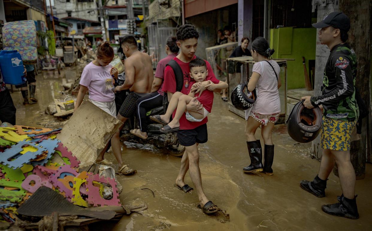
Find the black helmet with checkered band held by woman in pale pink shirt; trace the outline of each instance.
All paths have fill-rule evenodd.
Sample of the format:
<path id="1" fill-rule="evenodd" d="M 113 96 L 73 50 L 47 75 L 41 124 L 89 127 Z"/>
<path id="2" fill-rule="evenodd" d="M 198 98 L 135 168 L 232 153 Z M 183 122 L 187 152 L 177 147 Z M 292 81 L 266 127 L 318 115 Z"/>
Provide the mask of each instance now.
<path id="1" fill-rule="evenodd" d="M 235 87 L 235 89 L 231 92 L 231 103 L 234 105 L 235 108 L 239 110 L 247 110 L 251 106 L 253 106 L 253 103 L 256 101 L 256 89 L 253 90 L 252 96 L 248 96 L 244 93 L 244 90 L 247 88 L 248 91 L 248 86 L 247 82 L 244 84 L 238 84 L 238 86 Z M 249 91 L 248 91 L 249 94 Z"/>

